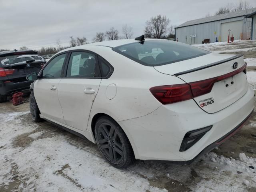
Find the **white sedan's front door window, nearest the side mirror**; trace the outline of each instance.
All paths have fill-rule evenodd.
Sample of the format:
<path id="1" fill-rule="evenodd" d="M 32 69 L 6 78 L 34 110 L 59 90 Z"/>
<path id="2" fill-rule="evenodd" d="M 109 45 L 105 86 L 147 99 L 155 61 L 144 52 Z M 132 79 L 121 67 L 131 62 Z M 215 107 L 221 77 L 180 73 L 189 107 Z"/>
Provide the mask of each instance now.
<path id="1" fill-rule="evenodd" d="M 66 53 L 53 58 L 44 68 L 43 78 L 60 78 L 65 57 Z"/>

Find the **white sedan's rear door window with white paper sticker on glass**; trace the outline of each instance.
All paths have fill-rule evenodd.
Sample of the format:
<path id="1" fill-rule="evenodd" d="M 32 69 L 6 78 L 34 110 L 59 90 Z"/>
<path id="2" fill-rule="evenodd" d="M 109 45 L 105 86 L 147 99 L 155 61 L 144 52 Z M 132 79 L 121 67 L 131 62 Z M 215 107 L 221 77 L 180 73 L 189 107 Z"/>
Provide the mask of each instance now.
<path id="1" fill-rule="evenodd" d="M 100 77 L 96 56 L 90 52 L 72 52 L 66 77 Z"/>

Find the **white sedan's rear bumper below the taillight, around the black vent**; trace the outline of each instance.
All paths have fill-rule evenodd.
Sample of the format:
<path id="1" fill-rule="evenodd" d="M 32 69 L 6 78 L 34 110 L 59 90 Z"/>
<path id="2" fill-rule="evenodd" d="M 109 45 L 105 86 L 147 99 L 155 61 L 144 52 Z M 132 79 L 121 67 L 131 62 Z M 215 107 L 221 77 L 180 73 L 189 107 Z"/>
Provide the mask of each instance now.
<path id="1" fill-rule="evenodd" d="M 166 160 L 189 164 L 236 133 L 254 109 L 254 91 L 223 110 L 208 114 L 194 100 L 162 105 L 139 118 L 118 122 L 128 136 L 135 157 L 141 160 Z M 180 152 L 184 135 L 212 125 L 196 144 Z"/>

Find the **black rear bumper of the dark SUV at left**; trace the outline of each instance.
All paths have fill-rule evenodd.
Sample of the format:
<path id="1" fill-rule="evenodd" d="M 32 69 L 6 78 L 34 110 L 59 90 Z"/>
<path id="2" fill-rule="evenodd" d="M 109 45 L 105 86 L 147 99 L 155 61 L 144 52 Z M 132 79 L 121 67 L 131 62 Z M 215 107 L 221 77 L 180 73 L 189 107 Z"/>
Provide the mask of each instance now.
<path id="1" fill-rule="evenodd" d="M 10 95 L 13 92 L 29 92 L 29 86 L 32 82 L 33 81 L 1 83 L 2 87 L 0 87 L 0 95 Z"/>

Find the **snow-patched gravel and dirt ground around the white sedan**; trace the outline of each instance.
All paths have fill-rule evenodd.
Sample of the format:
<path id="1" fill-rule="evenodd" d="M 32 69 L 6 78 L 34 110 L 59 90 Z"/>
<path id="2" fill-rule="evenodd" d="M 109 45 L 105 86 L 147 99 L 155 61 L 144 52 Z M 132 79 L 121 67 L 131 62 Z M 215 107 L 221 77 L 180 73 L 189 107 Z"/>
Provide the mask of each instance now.
<path id="1" fill-rule="evenodd" d="M 255 43 L 198 46 L 230 53 Z M 256 58 L 255 51 L 250 58 Z M 253 88 L 254 73 L 248 73 Z M 256 191 L 256 112 L 236 135 L 189 166 L 136 160 L 122 170 L 106 163 L 96 144 L 46 121 L 32 122 L 28 102 L 0 104 L 0 125 L 1 192 Z"/>

